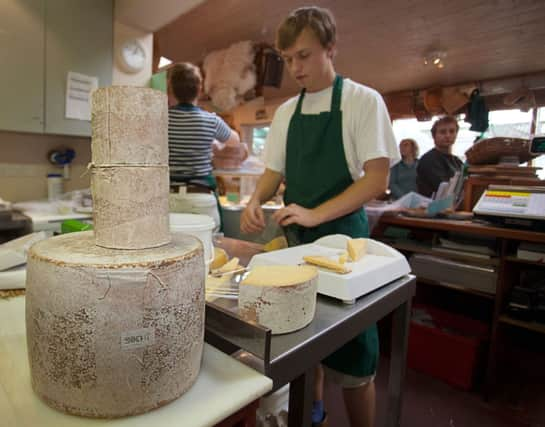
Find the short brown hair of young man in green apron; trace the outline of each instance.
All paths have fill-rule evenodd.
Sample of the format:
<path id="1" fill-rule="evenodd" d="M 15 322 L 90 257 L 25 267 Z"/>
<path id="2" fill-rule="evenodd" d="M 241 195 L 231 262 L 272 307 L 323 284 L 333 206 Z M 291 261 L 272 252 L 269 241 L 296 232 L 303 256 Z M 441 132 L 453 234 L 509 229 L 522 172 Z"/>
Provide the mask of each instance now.
<path id="1" fill-rule="evenodd" d="M 325 48 L 337 40 L 335 18 L 328 9 L 300 7 L 291 12 L 276 30 L 276 47 L 279 50 L 290 48 L 305 28 L 309 28 Z"/>

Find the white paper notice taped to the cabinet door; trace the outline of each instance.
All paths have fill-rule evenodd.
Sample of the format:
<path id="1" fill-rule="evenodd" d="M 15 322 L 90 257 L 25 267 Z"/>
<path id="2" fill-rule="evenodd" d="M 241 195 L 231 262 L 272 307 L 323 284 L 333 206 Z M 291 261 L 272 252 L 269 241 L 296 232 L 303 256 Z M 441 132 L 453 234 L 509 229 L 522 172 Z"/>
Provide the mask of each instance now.
<path id="1" fill-rule="evenodd" d="M 66 118 L 91 120 L 91 92 L 98 88 L 98 77 L 68 72 L 66 79 Z"/>

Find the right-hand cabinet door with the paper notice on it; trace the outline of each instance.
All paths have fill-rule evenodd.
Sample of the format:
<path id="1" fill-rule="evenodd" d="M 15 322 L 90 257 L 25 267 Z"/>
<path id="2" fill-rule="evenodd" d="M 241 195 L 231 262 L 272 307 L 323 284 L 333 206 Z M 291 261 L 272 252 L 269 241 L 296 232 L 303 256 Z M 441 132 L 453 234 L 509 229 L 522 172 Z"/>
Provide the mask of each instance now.
<path id="1" fill-rule="evenodd" d="M 91 135 L 91 122 L 67 119 L 69 71 L 112 84 L 113 0 L 46 0 L 45 132 Z"/>

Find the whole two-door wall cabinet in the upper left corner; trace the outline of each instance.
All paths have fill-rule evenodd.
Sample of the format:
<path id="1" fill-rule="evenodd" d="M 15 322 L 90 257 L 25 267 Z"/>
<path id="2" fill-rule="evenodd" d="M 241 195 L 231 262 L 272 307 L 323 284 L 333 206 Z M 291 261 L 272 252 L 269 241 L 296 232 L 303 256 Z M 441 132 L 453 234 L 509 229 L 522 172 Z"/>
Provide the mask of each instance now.
<path id="1" fill-rule="evenodd" d="M 111 85 L 113 0 L 1 0 L 0 64 L 0 130 L 91 135 L 65 118 L 66 78 Z"/>

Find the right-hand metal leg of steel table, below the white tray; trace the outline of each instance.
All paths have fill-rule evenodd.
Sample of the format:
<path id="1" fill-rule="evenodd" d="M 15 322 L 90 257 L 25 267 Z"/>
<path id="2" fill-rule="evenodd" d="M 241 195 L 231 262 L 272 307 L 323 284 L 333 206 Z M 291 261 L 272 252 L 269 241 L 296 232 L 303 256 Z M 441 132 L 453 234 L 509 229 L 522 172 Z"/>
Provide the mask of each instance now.
<path id="1" fill-rule="evenodd" d="M 398 427 L 401 418 L 402 393 L 407 363 L 407 343 L 411 300 L 395 309 L 392 319 L 392 352 L 390 356 L 390 377 L 388 380 L 388 406 L 386 427 Z"/>

